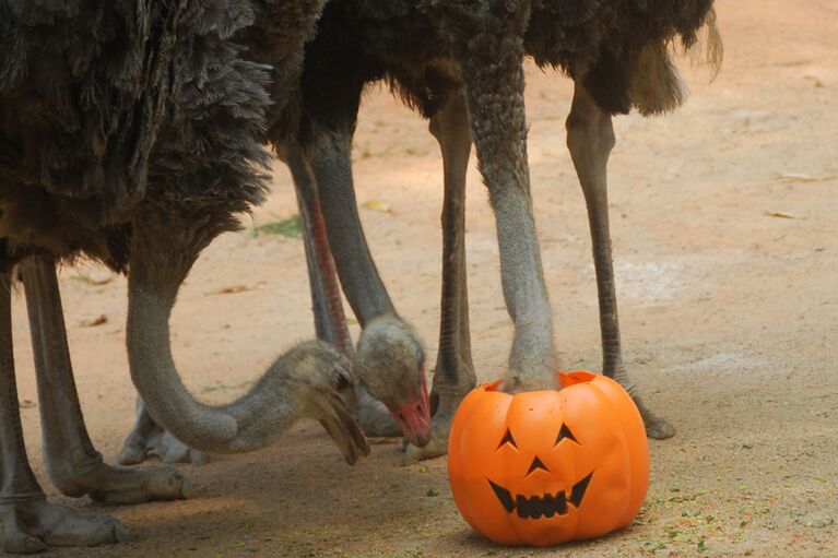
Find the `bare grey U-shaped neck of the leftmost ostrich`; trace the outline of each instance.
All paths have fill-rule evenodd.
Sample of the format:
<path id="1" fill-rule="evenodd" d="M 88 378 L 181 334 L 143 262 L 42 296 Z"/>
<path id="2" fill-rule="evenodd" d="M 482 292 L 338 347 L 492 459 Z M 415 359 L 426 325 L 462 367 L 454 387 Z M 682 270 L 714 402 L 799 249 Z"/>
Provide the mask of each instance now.
<path id="1" fill-rule="evenodd" d="M 169 316 L 177 288 L 153 288 L 129 278 L 127 343 L 131 378 L 152 416 L 182 442 L 233 453 L 261 448 L 298 418 L 293 391 L 278 361 L 244 396 L 223 406 L 197 401 L 172 356 Z"/>

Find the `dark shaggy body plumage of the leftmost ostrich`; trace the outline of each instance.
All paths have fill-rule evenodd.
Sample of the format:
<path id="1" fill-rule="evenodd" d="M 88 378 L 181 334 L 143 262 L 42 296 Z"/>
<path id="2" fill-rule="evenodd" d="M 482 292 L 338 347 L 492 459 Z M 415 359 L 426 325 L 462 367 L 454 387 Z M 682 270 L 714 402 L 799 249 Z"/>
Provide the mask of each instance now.
<path id="1" fill-rule="evenodd" d="M 267 76 L 231 40 L 252 20 L 244 0 L 0 0 L 0 236 L 122 268 L 149 195 L 258 202 Z"/>

